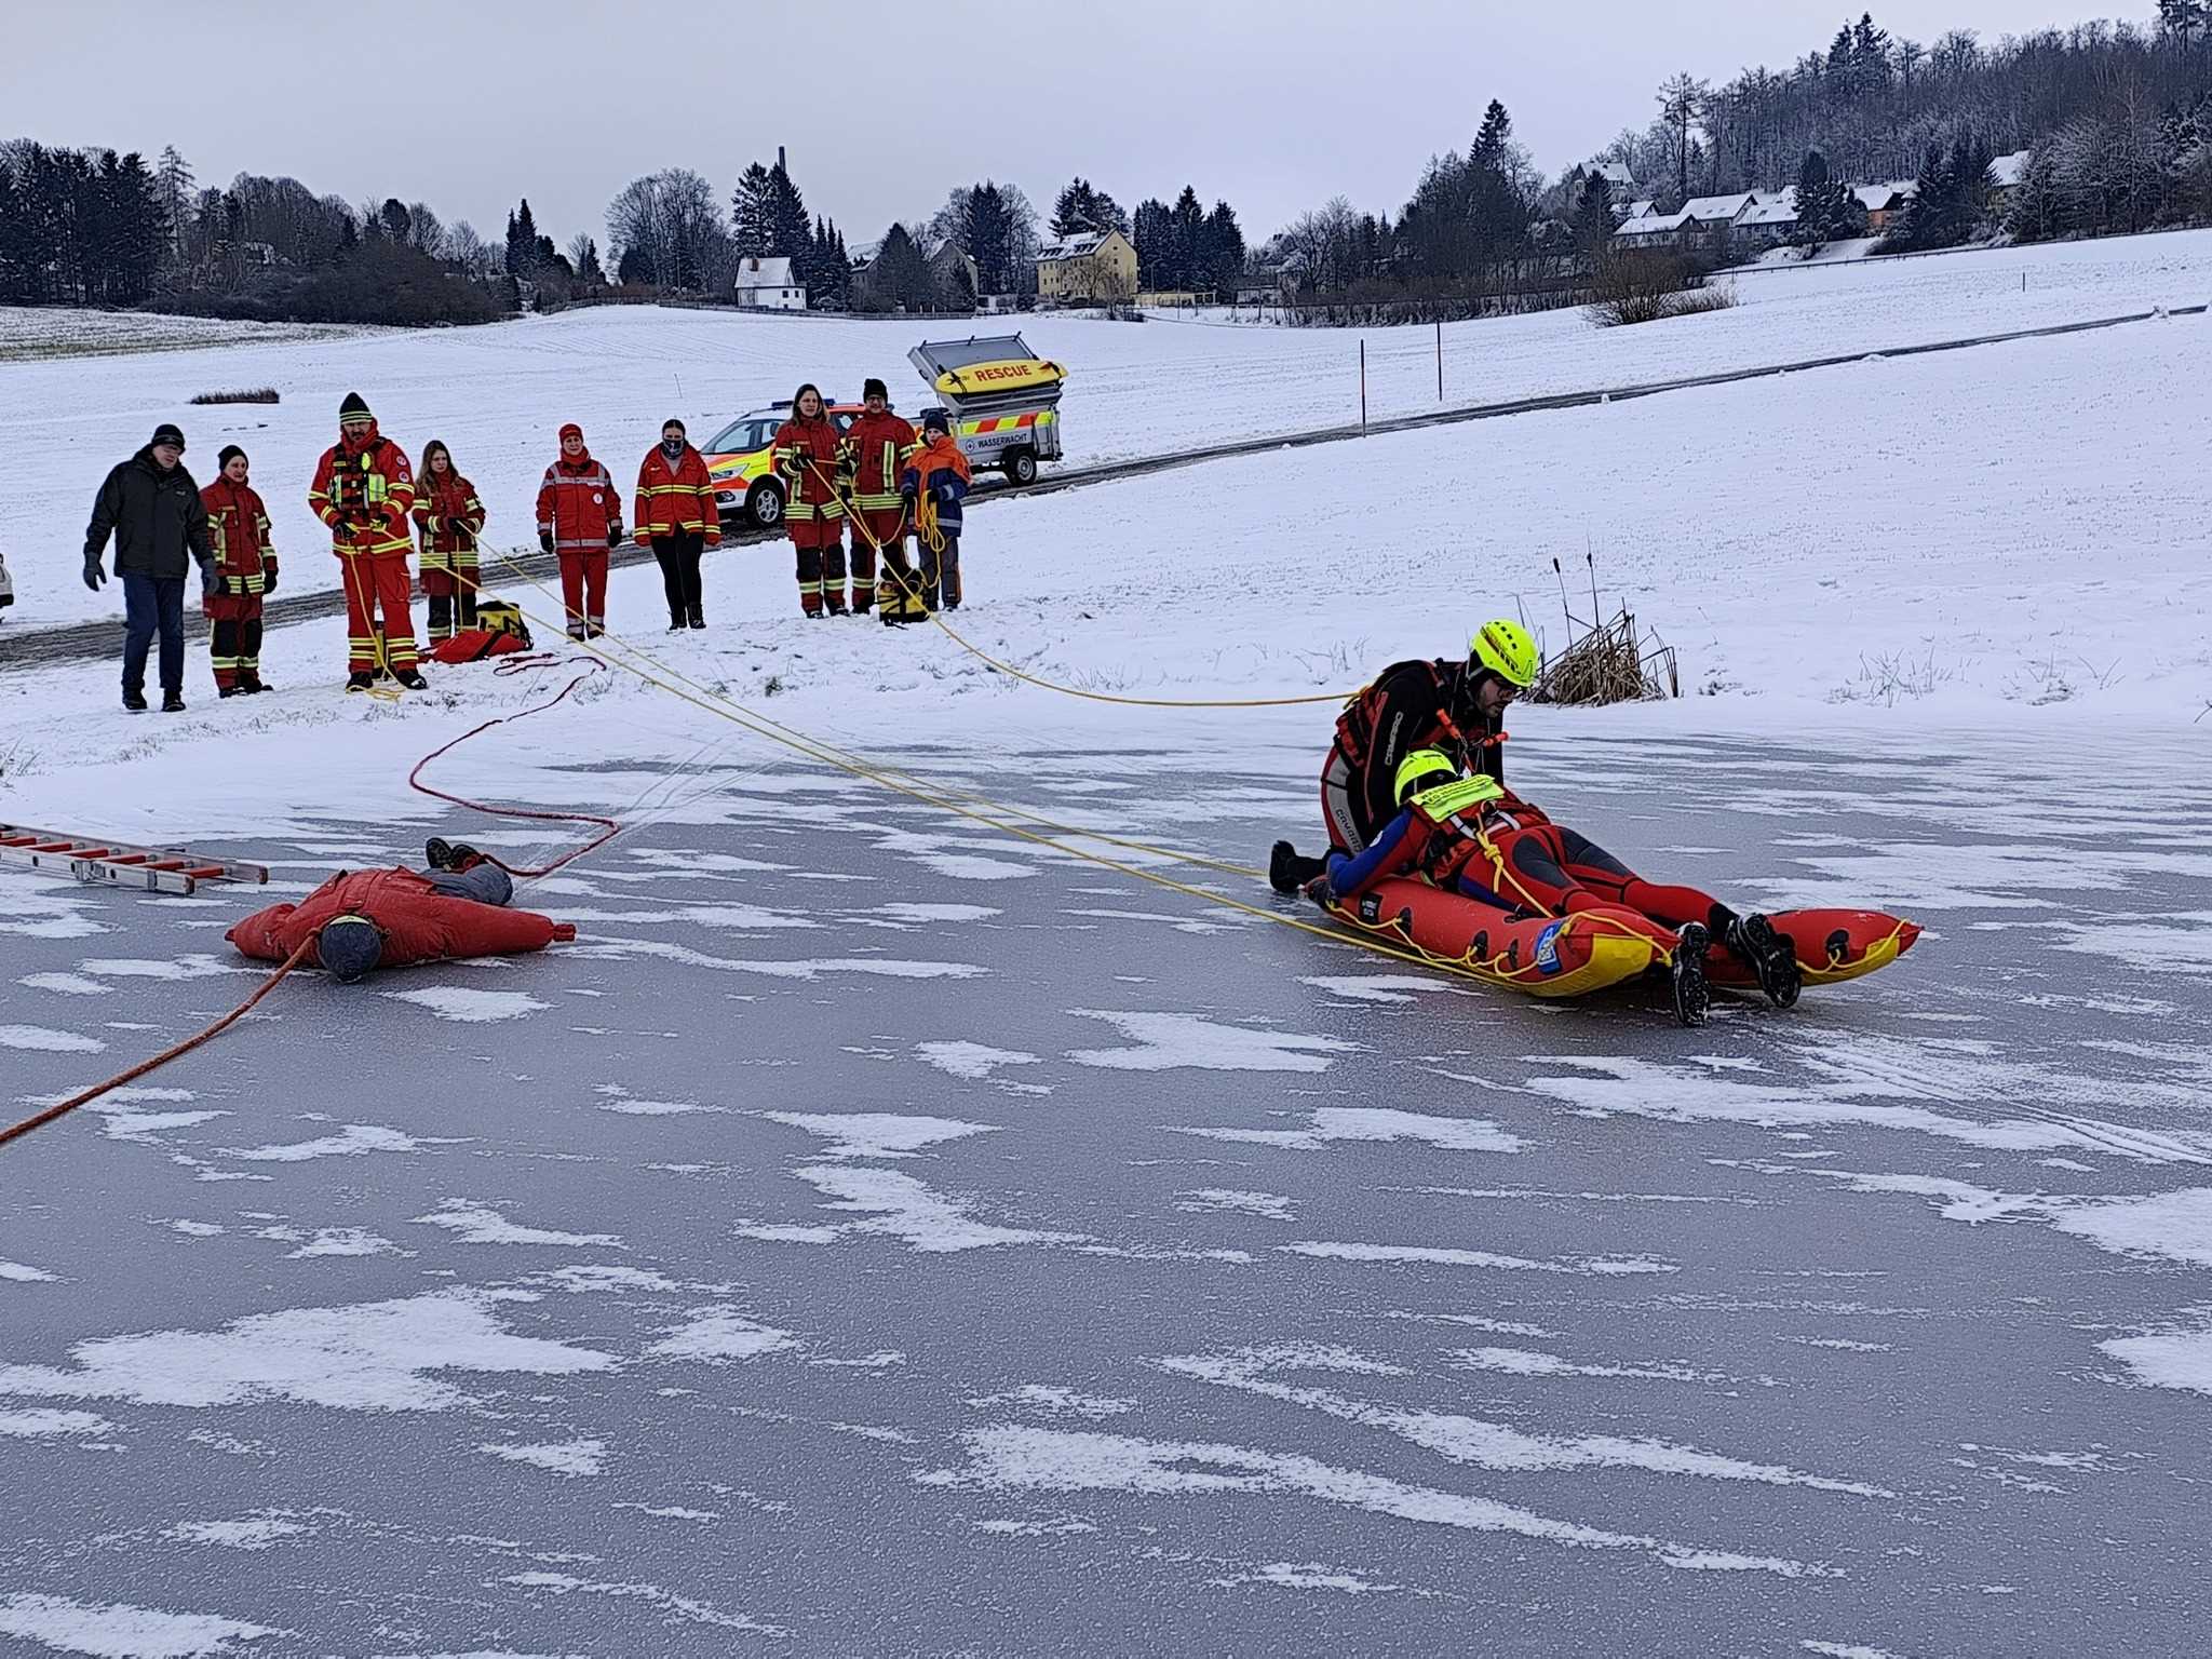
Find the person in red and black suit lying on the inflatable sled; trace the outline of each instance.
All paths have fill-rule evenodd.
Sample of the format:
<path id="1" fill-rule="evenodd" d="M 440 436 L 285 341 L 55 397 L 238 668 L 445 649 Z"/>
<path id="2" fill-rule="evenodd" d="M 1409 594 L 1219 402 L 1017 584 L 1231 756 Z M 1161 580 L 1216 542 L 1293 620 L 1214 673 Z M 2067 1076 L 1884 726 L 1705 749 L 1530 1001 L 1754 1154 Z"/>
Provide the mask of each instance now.
<path id="1" fill-rule="evenodd" d="M 1307 885 L 1323 909 L 1349 905 L 1389 876 L 1526 916 L 1626 909 L 1674 931 L 1674 995 L 1703 1004 L 1705 951 L 1714 940 L 1750 964 L 1776 1009 L 1798 998 L 1796 949 L 1765 916 L 1739 916 L 1694 887 L 1661 887 L 1588 836 L 1478 772 L 1462 779 L 1442 750 L 1416 750 L 1398 765 L 1400 812 L 1367 852 L 1329 854 Z M 1686 980 L 1692 984 L 1686 987 Z"/>

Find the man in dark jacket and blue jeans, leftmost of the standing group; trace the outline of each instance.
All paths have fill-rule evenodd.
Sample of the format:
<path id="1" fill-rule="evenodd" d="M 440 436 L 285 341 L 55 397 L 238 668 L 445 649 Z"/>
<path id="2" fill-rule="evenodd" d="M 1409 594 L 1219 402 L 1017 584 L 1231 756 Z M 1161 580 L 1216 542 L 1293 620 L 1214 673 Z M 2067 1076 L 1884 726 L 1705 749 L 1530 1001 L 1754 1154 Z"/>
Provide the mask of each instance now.
<path id="1" fill-rule="evenodd" d="M 124 584 L 124 708 L 146 708 L 146 650 L 161 635 L 161 712 L 184 712 L 184 582 L 199 564 L 201 588 L 215 593 L 215 546 L 199 484 L 184 469 L 184 434 L 166 420 L 131 460 L 115 467 L 93 498 L 84 526 L 84 586 L 100 593 L 100 557 L 115 538 L 115 575 Z"/>

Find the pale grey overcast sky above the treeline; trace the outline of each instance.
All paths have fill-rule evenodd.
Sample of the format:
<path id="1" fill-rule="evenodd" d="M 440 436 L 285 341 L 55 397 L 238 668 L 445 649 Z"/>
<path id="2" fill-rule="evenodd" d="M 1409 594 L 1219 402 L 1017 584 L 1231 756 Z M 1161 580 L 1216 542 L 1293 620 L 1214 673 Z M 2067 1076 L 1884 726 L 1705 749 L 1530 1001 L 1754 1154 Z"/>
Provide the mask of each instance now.
<path id="1" fill-rule="evenodd" d="M 1124 206 L 1194 184 L 1252 241 L 1332 195 L 1405 204 L 1502 97 L 1559 173 L 1644 126 L 1677 69 L 1725 80 L 1825 46 L 1863 0 L 0 0 L 0 137 L 175 144 L 199 184 L 429 201 L 498 237 L 604 241 L 666 166 L 728 197 L 790 148 L 849 243 L 998 177 L 1042 212 L 1075 173 Z M 1984 38 L 2152 0 L 1891 0 L 1876 22 Z"/>

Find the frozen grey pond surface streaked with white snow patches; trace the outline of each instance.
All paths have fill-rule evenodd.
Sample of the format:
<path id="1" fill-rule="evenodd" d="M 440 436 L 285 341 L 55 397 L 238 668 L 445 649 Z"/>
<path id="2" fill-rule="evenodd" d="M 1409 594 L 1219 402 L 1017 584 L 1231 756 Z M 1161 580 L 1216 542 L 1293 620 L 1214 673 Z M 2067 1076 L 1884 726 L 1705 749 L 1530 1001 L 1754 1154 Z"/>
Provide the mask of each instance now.
<path id="1" fill-rule="evenodd" d="M 580 945 L 0 1152 L 7 1650 L 2197 1652 L 2212 790 L 2075 759 L 1577 741 L 1650 872 L 1929 925 L 1703 1031 L 728 774 L 533 889 Z M 0 876 L 7 1115 L 243 995 L 239 911 Z"/>

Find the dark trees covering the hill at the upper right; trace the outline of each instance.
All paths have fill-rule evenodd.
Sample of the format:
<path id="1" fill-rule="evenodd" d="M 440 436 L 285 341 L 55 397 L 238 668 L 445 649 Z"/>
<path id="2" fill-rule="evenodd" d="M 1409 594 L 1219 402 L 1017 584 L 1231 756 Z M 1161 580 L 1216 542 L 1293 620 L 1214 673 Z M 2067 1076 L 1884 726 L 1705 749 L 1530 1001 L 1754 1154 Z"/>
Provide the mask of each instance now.
<path id="1" fill-rule="evenodd" d="M 1984 44 L 1955 29 L 1896 38 L 1871 13 L 1787 71 L 1723 86 L 1674 75 L 1657 115 L 1546 184 L 1491 104 L 1467 155 L 1431 159 L 1394 217 L 1343 197 L 1261 252 L 1285 294 L 1340 319 L 1566 303 L 1610 252 L 1617 161 L 1655 212 L 1692 197 L 1807 192 L 1798 246 L 1865 232 L 1856 184 L 1913 181 L 1882 252 L 1982 234 L 2022 241 L 2212 219 L 2212 2 L 2159 0 L 2157 22 L 2086 22 Z M 2026 150 L 1997 188 L 1989 164 Z M 1807 210 L 1809 206 L 1809 210 Z M 1694 257 L 1686 263 L 1697 281 Z"/>

